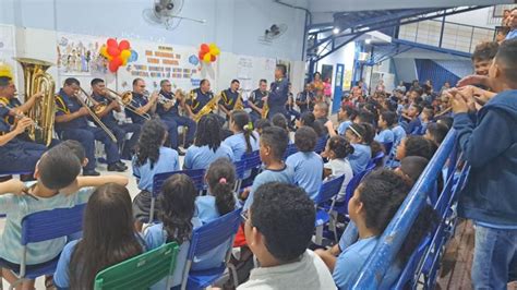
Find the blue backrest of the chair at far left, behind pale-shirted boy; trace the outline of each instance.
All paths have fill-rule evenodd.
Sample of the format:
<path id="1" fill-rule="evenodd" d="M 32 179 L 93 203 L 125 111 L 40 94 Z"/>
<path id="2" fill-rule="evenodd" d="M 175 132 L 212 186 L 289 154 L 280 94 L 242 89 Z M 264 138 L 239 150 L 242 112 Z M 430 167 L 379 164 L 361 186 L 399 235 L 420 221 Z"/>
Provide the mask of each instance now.
<path id="1" fill-rule="evenodd" d="M 83 228 L 86 204 L 37 212 L 22 219 L 22 245 L 70 235 Z M 49 230 L 51 229 L 51 230 Z"/>

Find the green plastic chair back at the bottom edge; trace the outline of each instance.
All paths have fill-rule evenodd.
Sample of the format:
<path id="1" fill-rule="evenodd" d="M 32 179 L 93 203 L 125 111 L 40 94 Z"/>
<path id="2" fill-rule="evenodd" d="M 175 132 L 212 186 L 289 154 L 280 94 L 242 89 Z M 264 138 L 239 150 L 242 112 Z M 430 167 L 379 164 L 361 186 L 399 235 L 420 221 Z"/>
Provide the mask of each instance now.
<path id="1" fill-rule="evenodd" d="M 178 251 L 172 242 L 104 269 L 97 273 L 94 289 L 147 289 L 165 277 L 170 289 Z"/>

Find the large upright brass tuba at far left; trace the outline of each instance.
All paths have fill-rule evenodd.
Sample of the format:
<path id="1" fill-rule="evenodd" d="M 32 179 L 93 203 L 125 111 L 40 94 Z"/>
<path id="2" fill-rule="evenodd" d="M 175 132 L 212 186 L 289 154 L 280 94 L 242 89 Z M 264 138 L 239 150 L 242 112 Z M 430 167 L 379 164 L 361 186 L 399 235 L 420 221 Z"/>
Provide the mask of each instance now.
<path id="1" fill-rule="evenodd" d="M 46 71 L 52 63 L 36 59 L 15 59 L 23 69 L 25 84 L 25 99 L 27 101 L 36 93 L 41 92 L 44 96 L 36 101 L 27 117 L 33 119 L 35 125 L 28 130 L 28 137 L 37 143 L 50 145 L 53 136 L 53 118 L 56 114 L 56 84 L 52 76 Z"/>

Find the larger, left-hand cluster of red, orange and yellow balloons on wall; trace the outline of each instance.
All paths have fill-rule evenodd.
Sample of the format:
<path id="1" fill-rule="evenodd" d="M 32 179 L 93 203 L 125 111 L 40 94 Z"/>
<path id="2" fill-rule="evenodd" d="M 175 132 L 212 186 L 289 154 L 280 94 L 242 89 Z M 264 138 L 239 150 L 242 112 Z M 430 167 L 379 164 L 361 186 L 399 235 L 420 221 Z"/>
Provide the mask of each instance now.
<path id="1" fill-rule="evenodd" d="M 125 65 L 128 62 L 136 61 L 139 55 L 131 49 L 128 40 L 117 43 L 113 38 L 108 38 L 106 45 L 100 47 L 100 55 L 108 59 L 108 69 L 110 72 L 117 72 L 120 65 Z"/>

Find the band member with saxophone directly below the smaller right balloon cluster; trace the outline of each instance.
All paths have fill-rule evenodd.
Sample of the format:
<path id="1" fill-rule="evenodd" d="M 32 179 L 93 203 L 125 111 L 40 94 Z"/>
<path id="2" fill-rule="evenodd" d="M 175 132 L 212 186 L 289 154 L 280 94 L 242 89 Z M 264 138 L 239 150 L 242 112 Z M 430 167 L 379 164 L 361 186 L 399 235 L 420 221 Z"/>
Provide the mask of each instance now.
<path id="1" fill-rule="evenodd" d="M 217 109 L 217 104 L 212 104 L 214 98 L 214 93 L 211 92 L 211 82 L 206 78 L 202 80 L 200 87 L 192 89 L 189 99 L 185 101 L 189 116 L 194 120 L 199 120 L 202 117 L 201 114 L 213 112 Z M 226 122 L 225 118 L 216 116 L 219 120 L 219 125 L 223 126 Z"/>

